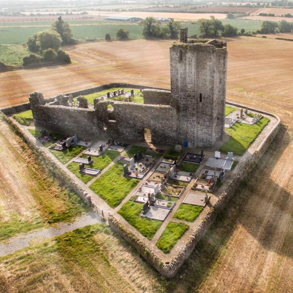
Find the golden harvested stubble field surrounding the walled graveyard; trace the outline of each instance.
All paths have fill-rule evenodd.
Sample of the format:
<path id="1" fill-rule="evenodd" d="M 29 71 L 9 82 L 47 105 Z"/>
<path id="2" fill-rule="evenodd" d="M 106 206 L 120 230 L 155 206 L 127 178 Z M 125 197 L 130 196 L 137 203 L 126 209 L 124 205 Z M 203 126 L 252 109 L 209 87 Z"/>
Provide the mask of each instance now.
<path id="1" fill-rule="evenodd" d="M 28 93 L 37 89 L 49 97 L 60 92 L 118 81 L 168 87 L 169 46 L 170 42 L 167 41 L 138 40 L 70 47 L 69 54 L 75 61 L 70 65 L 0 73 L 0 105 L 27 102 Z M 107 285 L 105 292 L 291 291 L 293 60 L 290 56 L 293 42 L 263 38 L 230 39 L 228 52 L 227 99 L 276 113 L 283 126 L 251 176 L 238 189 L 227 209 L 219 215 L 176 278 L 169 282 L 161 279 L 127 244 L 106 236 L 108 232 L 105 230 L 94 236 L 101 251 L 98 254 L 90 251 L 96 255 L 96 263 L 95 258 L 80 260 L 75 259 L 74 254 L 66 254 L 61 246 L 63 240 L 57 240 L 57 246 L 53 246 L 51 251 L 61 260 L 54 261 L 55 256 L 52 255 L 40 269 L 48 280 L 52 280 L 51 274 L 57 272 L 57 289 L 45 287 L 50 282 L 46 282 L 43 276 L 39 281 L 27 279 L 33 278 L 33 267 L 37 262 L 33 255 L 39 253 L 37 256 L 42 256 L 44 250 L 41 248 L 25 252 L 27 260 L 21 255 L 12 255 L 3 260 L 3 290 L 11 288 L 11 292 L 15 292 L 25 284 L 32 286 L 37 282 L 30 292 L 45 292 L 46 289 L 49 292 L 64 292 L 64 288 L 69 292 L 73 283 L 69 284 L 67 279 L 75 280 L 82 276 L 84 285 L 74 288 L 77 292 L 95 292 L 95 288 L 102 286 L 99 285 L 102 283 L 113 286 Z M 73 236 L 70 237 L 73 239 Z M 107 246 L 109 239 L 111 245 Z M 50 249 L 51 246 L 46 247 Z M 103 247 L 104 252 L 100 250 Z M 94 255 L 88 251 L 81 253 L 84 253 L 84 257 Z M 103 265 L 99 258 L 106 259 L 108 263 Z M 19 266 L 27 265 L 26 261 L 29 262 L 29 266 L 25 267 L 28 271 L 19 277 Z M 74 270 L 68 277 L 72 261 Z M 111 272 L 104 274 L 109 265 Z M 94 269 L 96 273 L 93 273 Z M 103 279 L 97 281 L 100 272 L 103 273 Z M 113 275 L 117 277 L 113 278 Z M 64 286 L 59 290 L 58 282 Z"/>

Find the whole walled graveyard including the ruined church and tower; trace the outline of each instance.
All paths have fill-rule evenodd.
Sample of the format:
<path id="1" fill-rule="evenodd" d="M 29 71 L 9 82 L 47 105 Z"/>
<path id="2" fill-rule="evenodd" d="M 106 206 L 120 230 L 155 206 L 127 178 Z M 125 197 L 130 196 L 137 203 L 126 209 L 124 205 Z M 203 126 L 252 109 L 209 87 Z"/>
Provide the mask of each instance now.
<path id="1" fill-rule="evenodd" d="M 191 79 L 185 84 L 186 60 L 196 54 L 213 65 L 202 70 L 192 63 L 206 85 L 194 90 Z M 63 181 L 167 277 L 278 126 L 270 113 L 226 102 L 226 42 L 188 44 L 182 30 L 170 63 L 171 90 L 106 84 L 49 99 L 36 91 L 23 111 L 8 115 Z"/>

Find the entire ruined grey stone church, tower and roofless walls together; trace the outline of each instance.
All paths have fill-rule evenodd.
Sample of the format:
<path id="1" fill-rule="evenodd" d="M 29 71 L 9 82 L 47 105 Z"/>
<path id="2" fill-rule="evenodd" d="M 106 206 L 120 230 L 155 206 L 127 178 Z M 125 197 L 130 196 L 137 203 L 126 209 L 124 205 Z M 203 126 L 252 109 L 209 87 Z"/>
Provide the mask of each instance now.
<path id="1" fill-rule="evenodd" d="M 46 103 L 41 92 L 30 95 L 35 125 L 55 133 L 96 137 L 105 133 L 135 141 L 211 147 L 222 139 L 225 124 L 227 47 L 225 41 L 189 43 L 187 29 L 170 47 L 171 90 L 144 89 L 144 104 L 94 99 L 89 106 L 74 95 L 58 95 Z M 130 97 L 133 92 L 130 93 Z M 75 96 L 76 97 L 76 96 Z M 112 107 L 109 108 L 108 105 Z"/>

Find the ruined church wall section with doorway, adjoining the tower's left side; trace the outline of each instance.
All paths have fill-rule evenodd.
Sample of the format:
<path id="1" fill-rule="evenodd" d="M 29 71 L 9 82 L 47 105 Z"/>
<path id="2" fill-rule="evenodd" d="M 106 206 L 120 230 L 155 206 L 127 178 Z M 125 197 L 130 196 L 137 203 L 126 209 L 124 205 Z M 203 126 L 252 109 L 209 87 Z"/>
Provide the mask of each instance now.
<path id="1" fill-rule="evenodd" d="M 174 144 L 177 141 L 176 109 L 167 105 L 113 104 L 119 133 L 128 139 L 144 141 L 144 128 L 149 128 L 151 141 Z"/>

